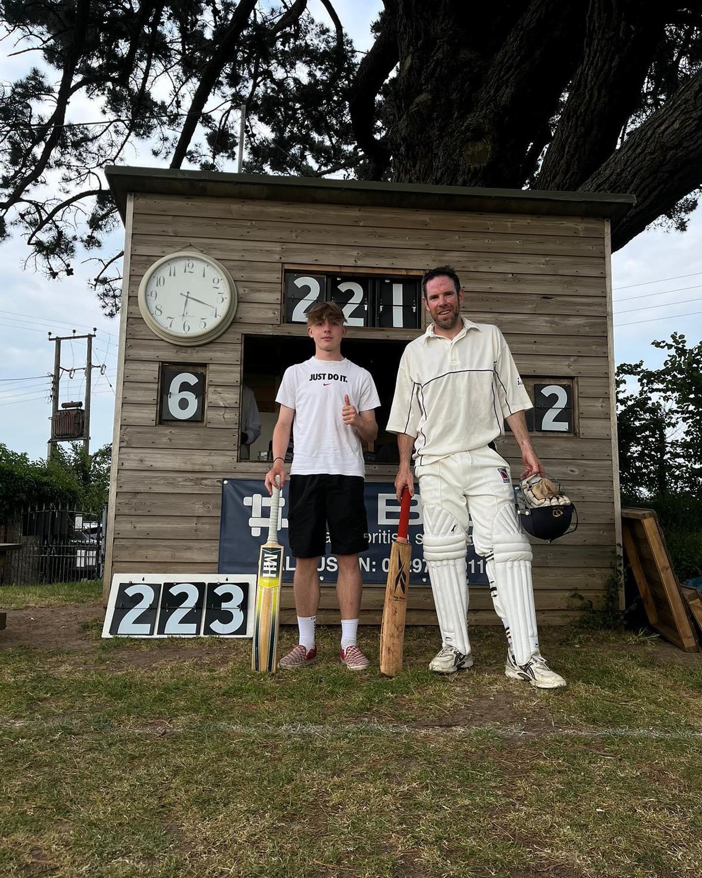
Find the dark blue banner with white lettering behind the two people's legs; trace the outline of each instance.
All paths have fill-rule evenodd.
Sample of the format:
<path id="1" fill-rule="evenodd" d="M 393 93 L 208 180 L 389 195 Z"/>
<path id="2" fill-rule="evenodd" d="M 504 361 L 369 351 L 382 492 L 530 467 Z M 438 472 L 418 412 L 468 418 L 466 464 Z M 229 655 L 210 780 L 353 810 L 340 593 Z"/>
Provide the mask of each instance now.
<path id="1" fill-rule="evenodd" d="M 384 583 L 390 561 L 390 546 L 398 536 L 400 505 L 391 482 L 366 482 L 369 548 L 360 556 L 363 581 Z M 295 558 L 288 545 L 288 483 L 283 486 L 278 514 L 278 542 L 284 547 L 283 582 L 292 582 Z M 268 539 L 270 497 L 260 479 L 225 479 L 222 484 L 222 516 L 219 523 L 220 573 L 255 573 L 261 543 Z M 419 493 L 412 497 L 410 508 L 410 543 L 412 544 L 411 585 L 429 585 L 422 552 L 422 507 Z M 335 582 L 336 558 L 330 554 L 326 535 L 326 556 L 319 559 L 319 579 Z M 468 547 L 468 581 L 487 585 L 484 560 Z"/>

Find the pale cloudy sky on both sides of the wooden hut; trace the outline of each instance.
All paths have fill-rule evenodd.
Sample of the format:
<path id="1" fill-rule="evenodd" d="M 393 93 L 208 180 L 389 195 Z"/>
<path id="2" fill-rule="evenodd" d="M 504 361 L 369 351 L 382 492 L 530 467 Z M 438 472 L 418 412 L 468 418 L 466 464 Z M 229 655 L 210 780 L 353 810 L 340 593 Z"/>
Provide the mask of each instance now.
<path id="1" fill-rule="evenodd" d="M 336 0 L 341 22 L 364 51 L 373 38 L 370 23 L 381 0 Z M 320 0 L 310 10 L 319 20 L 329 19 Z M 8 47 L 0 44 L 0 81 L 19 75 L 25 61 L 7 58 Z M 86 102 L 75 106 L 71 119 L 94 119 Z M 84 114 L 84 115 L 82 115 Z M 149 164 L 135 155 L 134 164 Z M 104 252 L 123 246 L 120 229 L 105 239 Z M 104 316 L 97 297 L 88 288 L 91 266 L 76 265 L 75 275 L 51 281 L 23 267 L 27 250 L 21 240 L 0 245 L 0 443 L 30 458 L 46 457 L 51 403 L 50 378 L 54 370 L 54 343 L 48 333 L 85 335 L 96 329 L 93 371 L 90 450 L 112 440 L 117 374 L 118 319 Z M 651 227 L 612 255 L 614 303 L 614 354 L 616 363 L 643 360 L 655 368 L 665 352 L 652 348 L 653 339 L 682 332 L 690 344 L 702 337 L 702 209 L 691 216 L 688 231 L 681 234 Z M 83 399 L 85 340 L 61 344 L 60 402 Z"/>

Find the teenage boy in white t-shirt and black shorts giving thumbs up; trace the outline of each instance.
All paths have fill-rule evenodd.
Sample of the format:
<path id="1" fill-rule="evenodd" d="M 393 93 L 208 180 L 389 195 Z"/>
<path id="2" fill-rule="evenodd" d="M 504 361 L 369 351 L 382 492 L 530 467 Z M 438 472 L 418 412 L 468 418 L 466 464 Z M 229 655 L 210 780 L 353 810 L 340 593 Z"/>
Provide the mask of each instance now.
<path id="1" fill-rule="evenodd" d="M 280 413 L 273 431 L 273 466 L 266 474 L 271 493 L 276 476 L 285 483 L 285 450 L 293 430 L 290 467 L 290 552 L 296 559 L 293 589 L 299 643 L 280 660 L 281 668 L 311 665 L 317 658 L 314 625 L 319 607 L 320 556 L 331 549 L 339 570 L 336 585 L 341 612 L 340 659 L 350 671 L 369 666 L 356 643 L 362 579 L 358 553 L 368 548 L 363 501 L 365 473 L 361 443 L 377 435 L 380 406 L 373 378 L 341 355 L 344 314 L 333 302 L 313 306 L 307 334 L 314 356 L 290 366 L 276 396 Z"/>

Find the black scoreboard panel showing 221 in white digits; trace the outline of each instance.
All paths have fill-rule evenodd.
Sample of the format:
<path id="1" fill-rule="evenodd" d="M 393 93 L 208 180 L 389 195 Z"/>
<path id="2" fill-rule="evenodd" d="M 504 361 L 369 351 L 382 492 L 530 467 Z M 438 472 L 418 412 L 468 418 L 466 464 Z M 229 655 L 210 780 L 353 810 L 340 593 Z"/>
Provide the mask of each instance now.
<path id="1" fill-rule="evenodd" d="M 286 323 L 305 323 L 319 302 L 340 306 L 349 327 L 419 329 L 422 323 L 419 277 L 353 272 L 283 272 Z"/>

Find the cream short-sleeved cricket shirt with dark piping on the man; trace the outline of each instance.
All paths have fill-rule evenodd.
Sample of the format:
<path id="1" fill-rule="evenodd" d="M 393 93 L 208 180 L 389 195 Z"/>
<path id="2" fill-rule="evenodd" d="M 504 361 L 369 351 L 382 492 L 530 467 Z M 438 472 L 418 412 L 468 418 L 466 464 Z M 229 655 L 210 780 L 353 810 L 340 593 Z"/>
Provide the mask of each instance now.
<path id="1" fill-rule="evenodd" d="M 388 421 L 390 433 L 415 436 L 425 464 L 491 443 L 506 417 L 532 407 L 498 327 L 463 318 L 453 339 L 433 330 L 405 348 Z"/>

